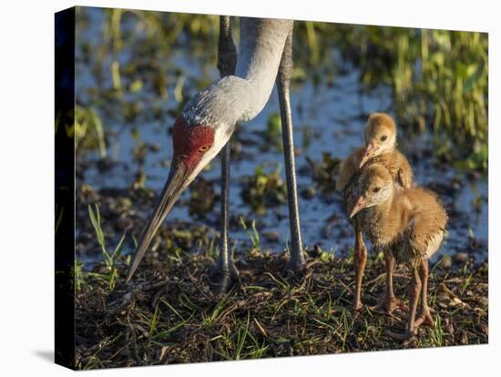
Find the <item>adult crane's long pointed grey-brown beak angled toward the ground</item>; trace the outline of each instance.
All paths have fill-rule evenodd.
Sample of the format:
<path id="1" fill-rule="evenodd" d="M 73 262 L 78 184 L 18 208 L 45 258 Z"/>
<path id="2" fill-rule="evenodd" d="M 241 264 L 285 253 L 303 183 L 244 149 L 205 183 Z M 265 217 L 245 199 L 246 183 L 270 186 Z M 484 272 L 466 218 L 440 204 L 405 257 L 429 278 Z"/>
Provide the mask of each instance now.
<path id="1" fill-rule="evenodd" d="M 148 224 L 141 234 L 138 248 L 136 249 L 134 257 L 132 258 L 128 268 L 126 282 L 132 278 L 134 271 L 138 268 L 139 262 L 144 257 L 146 250 L 148 250 L 148 246 L 155 236 L 155 233 L 157 233 L 160 224 L 166 218 L 174 203 L 179 199 L 183 189 L 188 186 L 188 178 L 189 171 L 185 167 L 184 163 L 179 160 L 174 160 L 173 165 L 170 167 L 169 178 L 162 189 L 157 205 L 155 206 L 155 209 L 153 209 L 153 212 L 148 219 Z"/>

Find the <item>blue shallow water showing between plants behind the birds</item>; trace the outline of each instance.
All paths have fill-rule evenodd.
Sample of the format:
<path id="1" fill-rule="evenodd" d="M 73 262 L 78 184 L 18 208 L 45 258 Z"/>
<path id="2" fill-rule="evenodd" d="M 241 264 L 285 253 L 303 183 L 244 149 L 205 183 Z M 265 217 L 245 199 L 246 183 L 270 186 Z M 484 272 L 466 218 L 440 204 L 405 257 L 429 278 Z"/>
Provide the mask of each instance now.
<path id="1" fill-rule="evenodd" d="M 96 87 L 99 89 L 112 87 L 110 66 L 113 55 L 104 56 L 102 65 L 97 59 L 97 49 L 104 45 L 102 21 L 103 11 L 98 8 L 90 9 L 86 13 L 87 21 L 80 22 L 77 33 L 77 103 L 84 106 L 93 106 L 107 132 L 107 155 L 115 162 L 111 171 L 103 174 L 97 164 L 101 157 L 97 151 L 90 150 L 78 160 L 78 164 L 85 163 L 89 166 L 85 171 L 83 180 L 95 189 L 113 188 L 125 189 L 132 186 L 136 179 L 139 163 L 133 157 L 133 149 L 138 147 L 139 140 L 147 145 L 158 147 L 157 151 L 148 151 L 141 167 L 147 174 L 146 185 L 157 192 L 163 187 L 169 173 L 169 158 L 172 153 L 168 129 L 173 123 L 167 111 L 176 114 L 179 107 L 176 100 L 175 87 L 179 85 L 179 77 L 184 77 L 182 92 L 193 94 L 196 87 L 203 83 L 210 83 L 219 78 L 215 66 L 201 62 L 201 55 L 193 53 L 188 46 L 176 46 L 167 52 L 168 59 L 158 64 L 165 64 L 167 71 L 166 86 L 169 98 L 158 97 L 151 85 L 151 76 L 148 72 L 140 72 L 137 77 L 143 82 L 143 88 L 138 93 L 125 93 L 121 100 L 110 99 L 96 103 L 95 98 L 89 95 Z M 134 30 L 135 21 L 127 18 L 124 28 Z M 132 36 L 130 43 L 139 40 Z M 136 41 L 137 42 L 137 41 Z M 87 45 L 90 53 L 84 54 L 81 46 Z M 120 67 L 126 67 L 134 59 L 149 60 L 149 56 L 137 56 L 136 52 L 128 48 L 128 44 L 118 53 Z M 209 46 L 216 48 L 216 45 Z M 162 56 L 162 53 L 159 54 Z M 166 57 L 166 56 L 164 56 Z M 339 54 L 332 50 L 332 61 L 338 66 Z M 102 66 L 102 80 L 97 79 L 95 66 Z M 298 171 L 298 191 L 314 187 L 315 184 L 308 174 L 306 158 L 321 160 L 324 152 L 330 152 L 334 158 L 346 157 L 353 148 L 363 143 L 363 125 L 367 114 L 373 111 L 392 112 L 391 91 L 387 87 L 377 87 L 370 93 L 363 92 L 359 82 L 359 71 L 356 67 L 346 67 L 342 74 L 334 76 L 333 81 L 325 80 L 314 86 L 312 80 L 307 79 L 292 88 L 292 117 L 294 120 L 294 140 L 296 148 L 301 153 L 296 158 Z M 307 72 L 308 73 L 308 72 Z M 135 77 L 135 74 L 131 74 Z M 127 83 L 125 78 L 122 85 Z M 188 96 L 187 96 L 188 97 Z M 121 115 L 121 107 L 127 104 L 141 103 L 142 110 L 138 111 L 132 120 Z M 153 117 L 152 113 L 159 108 L 160 117 Z M 261 237 L 261 246 L 272 250 L 283 250 L 289 238 L 289 223 L 287 204 L 281 204 L 268 210 L 266 215 L 256 215 L 240 197 L 242 178 L 252 175 L 258 165 L 265 167 L 266 171 L 273 171 L 278 166 L 283 175 L 283 157 L 277 148 L 262 150 L 267 144 L 265 135 L 267 121 L 272 114 L 278 113 L 278 98 L 273 91 L 268 105 L 261 114 L 246 124 L 239 126 L 239 138 L 242 144 L 242 153 L 239 159 L 231 163 L 230 210 L 234 214 L 246 215 L 249 219 L 257 219 L 260 232 L 277 232 L 280 238 L 277 241 Z M 310 142 L 308 139 L 312 138 Z M 454 168 L 445 168 L 436 164 L 433 154 L 430 153 L 431 138 L 429 134 L 421 136 L 401 133 L 399 146 L 409 157 L 413 164 L 416 181 L 424 186 L 439 189 L 439 194 L 445 202 L 447 209 L 452 209 L 455 214 L 451 217 L 448 226 L 448 236 L 442 249 L 435 260 L 444 254 L 455 254 L 458 250 L 465 250 L 470 236 L 479 241 L 479 246 L 467 249 L 475 256 L 476 261 L 487 259 L 487 181 L 486 178 L 466 178 L 463 172 Z M 250 142 L 252 141 L 252 143 Z M 78 165 L 77 165 L 78 167 Z M 218 180 L 220 175 L 220 160 L 215 158 L 210 168 L 204 170 L 200 176 L 210 180 Z M 285 179 L 285 178 L 284 178 Z M 455 182 L 455 183 L 454 183 Z M 454 187 L 453 187 L 454 186 Z M 216 185 L 216 190 L 218 191 Z M 440 192 L 442 189 L 444 192 Z M 319 190 L 317 190 L 319 192 Z M 479 210 L 475 210 L 474 200 L 483 197 Z M 188 190 L 182 199 L 189 198 Z M 336 255 L 347 255 L 353 246 L 352 231 L 343 213 L 342 198 L 337 192 L 325 194 L 317 193 L 312 199 L 299 198 L 302 223 L 302 239 L 307 246 L 320 244 L 322 249 L 333 250 Z M 172 209 L 167 221 L 183 219 L 196 222 L 205 222 L 217 230 L 219 202 L 214 206 L 205 219 L 192 219 L 187 205 L 177 205 Z M 147 217 L 147 214 L 144 214 Z M 248 244 L 249 238 L 241 229 L 232 229 L 232 241 L 240 245 Z M 131 252 L 132 250 L 127 250 Z M 97 250 L 97 253 L 100 251 Z M 84 260 L 85 261 L 85 260 Z"/>

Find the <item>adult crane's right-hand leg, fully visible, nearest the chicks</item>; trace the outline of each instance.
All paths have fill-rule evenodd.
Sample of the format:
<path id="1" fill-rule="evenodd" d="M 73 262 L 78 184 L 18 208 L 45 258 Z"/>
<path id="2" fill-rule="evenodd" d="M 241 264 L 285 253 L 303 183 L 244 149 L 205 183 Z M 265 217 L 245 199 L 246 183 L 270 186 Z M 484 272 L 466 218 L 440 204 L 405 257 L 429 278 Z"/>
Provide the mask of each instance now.
<path id="1" fill-rule="evenodd" d="M 287 271 L 299 273 L 305 270 L 306 262 L 302 252 L 301 229 L 299 219 L 298 193 L 294 161 L 294 139 L 292 133 L 290 84 L 292 76 L 292 28 L 287 36 L 277 76 L 277 88 L 281 110 L 281 130 L 283 138 L 283 156 L 287 178 L 287 197 L 289 201 L 289 221 L 291 225 L 291 260 Z"/>

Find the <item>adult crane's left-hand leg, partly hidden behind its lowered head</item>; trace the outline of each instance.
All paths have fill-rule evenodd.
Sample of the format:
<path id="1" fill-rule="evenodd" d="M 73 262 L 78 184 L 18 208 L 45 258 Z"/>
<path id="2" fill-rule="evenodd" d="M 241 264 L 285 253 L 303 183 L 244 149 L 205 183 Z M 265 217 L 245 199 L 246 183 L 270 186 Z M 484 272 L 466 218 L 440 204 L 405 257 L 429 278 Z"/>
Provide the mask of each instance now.
<path id="1" fill-rule="evenodd" d="M 231 36 L 229 15 L 220 15 L 220 39 L 218 44 L 218 69 L 220 76 L 234 75 L 237 65 L 237 49 Z M 221 151 L 221 208 L 220 208 L 220 256 L 212 272 L 217 290 L 225 292 L 239 280 L 239 271 L 231 259 L 228 240 L 230 228 L 230 141 Z"/>

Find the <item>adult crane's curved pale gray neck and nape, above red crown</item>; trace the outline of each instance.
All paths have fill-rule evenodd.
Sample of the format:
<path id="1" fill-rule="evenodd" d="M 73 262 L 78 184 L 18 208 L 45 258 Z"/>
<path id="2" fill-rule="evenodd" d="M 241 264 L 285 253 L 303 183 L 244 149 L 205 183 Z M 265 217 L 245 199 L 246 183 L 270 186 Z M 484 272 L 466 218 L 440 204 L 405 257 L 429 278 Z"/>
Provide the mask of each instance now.
<path id="1" fill-rule="evenodd" d="M 183 109 L 188 123 L 216 127 L 256 117 L 270 98 L 292 22 L 241 18 L 235 76 L 223 77 L 193 97 Z"/>

